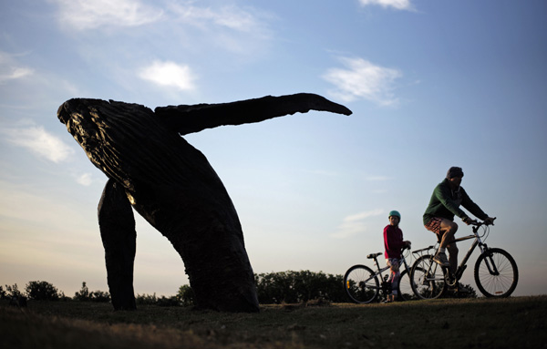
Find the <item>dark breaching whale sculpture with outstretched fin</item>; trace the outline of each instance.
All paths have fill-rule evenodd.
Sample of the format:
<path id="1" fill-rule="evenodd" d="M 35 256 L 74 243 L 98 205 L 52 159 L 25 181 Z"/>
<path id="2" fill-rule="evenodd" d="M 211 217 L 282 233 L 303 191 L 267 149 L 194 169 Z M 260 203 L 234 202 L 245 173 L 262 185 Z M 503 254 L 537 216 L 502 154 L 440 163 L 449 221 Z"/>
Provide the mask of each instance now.
<path id="1" fill-rule="evenodd" d="M 197 307 L 259 311 L 253 269 L 232 200 L 205 156 L 181 136 L 312 109 L 351 114 L 314 94 L 154 111 L 138 104 L 73 98 L 58 108 L 57 118 L 108 176 L 98 222 L 114 309 L 136 309 L 133 208 L 181 255 Z"/>

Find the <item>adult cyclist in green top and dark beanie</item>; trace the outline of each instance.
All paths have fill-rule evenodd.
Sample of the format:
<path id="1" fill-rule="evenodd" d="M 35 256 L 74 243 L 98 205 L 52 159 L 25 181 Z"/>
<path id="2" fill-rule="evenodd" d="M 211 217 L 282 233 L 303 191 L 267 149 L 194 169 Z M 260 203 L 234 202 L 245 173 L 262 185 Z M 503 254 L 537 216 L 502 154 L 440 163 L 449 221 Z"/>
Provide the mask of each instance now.
<path id="1" fill-rule="evenodd" d="M 428 209 L 424 213 L 426 229 L 437 234 L 440 241 L 439 251 L 433 257 L 433 261 L 449 267 L 451 272 L 456 272 L 458 268 L 458 247 L 456 242 L 449 243 L 454 240 L 454 234 L 458 231 L 454 215 L 468 225 L 473 222 L 463 210 L 459 209 L 459 206 L 463 206 L 487 224 L 493 225 L 495 220 L 480 210 L 479 205 L 473 202 L 467 192 L 460 187 L 462 178 L 463 170 L 459 167 L 451 167 L 447 177 L 433 190 Z M 449 250 L 449 260 L 445 253 L 446 249 Z"/>

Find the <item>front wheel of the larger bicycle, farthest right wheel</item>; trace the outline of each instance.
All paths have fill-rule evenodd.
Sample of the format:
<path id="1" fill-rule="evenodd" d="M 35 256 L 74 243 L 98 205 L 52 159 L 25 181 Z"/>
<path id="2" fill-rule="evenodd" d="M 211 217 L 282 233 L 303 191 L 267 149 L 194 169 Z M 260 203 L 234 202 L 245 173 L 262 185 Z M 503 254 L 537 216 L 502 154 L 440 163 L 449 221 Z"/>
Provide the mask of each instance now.
<path id="1" fill-rule="evenodd" d="M 507 251 L 488 249 L 475 263 L 475 282 L 487 297 L 509 297 L 519 282 L 517 263 Z"/>

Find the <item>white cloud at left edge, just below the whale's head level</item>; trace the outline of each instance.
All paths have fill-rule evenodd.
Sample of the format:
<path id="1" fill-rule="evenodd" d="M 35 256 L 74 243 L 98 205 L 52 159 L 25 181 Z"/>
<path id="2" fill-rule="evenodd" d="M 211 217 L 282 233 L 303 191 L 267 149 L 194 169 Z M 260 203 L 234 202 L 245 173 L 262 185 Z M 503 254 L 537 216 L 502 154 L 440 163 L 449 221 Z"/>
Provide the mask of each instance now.
<path id="1" fill-rule="evenodd" d="M 23 147 L 40 158 L 55 163 L 68 159 L 74 153 L 67 144 L 49 134 L 43 127 L 3 129 L 6 140 L 15 146 Z"/>

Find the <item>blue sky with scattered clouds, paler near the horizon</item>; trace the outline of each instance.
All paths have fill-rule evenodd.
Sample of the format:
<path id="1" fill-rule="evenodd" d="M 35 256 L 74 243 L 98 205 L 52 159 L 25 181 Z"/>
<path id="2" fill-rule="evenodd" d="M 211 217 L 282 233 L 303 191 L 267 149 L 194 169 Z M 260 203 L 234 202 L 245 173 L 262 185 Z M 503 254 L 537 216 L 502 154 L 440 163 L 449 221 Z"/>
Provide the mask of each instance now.
<path id="1" fill-rule="evenodd" d="M 0 0 L 0 285 L 108 291 L 107 177 L 58 121 L 67 99 L 156 108 L 307 92 L 353 114 L 184 137 L 228 190 L 255 273 L 372 266 L 389 210 L 413 250 L 433 244 L 422 215 L 459 166 L 497 217 L 487 244 L 519 266 L 513 294 L 544 294 L 546 15 L 542 0 Z M 136 221 L 135 293 L 177 293 L 181 257 Z"/>

